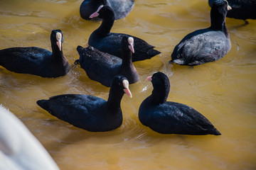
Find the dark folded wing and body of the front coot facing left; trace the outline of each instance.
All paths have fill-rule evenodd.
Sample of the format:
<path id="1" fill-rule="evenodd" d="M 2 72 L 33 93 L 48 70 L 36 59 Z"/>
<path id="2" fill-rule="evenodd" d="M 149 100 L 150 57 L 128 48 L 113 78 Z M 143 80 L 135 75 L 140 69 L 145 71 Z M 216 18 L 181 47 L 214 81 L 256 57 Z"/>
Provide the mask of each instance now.
<path id="1" fill-rule="evenodd" d="M 198 111 L 181 103 L 169 102 L 144 108 L 144 125 L 164 134 L 220 135 Z M 147 117 L 147 118 L 146 118 Z"/>

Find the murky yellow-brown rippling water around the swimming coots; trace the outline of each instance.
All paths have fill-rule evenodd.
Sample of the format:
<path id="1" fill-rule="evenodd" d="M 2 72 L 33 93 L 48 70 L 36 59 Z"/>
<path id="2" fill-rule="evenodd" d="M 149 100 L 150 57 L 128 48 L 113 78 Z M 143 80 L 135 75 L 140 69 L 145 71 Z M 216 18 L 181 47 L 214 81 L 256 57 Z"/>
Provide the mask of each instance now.
<path id="1" fill-rule="evenodd" d="M 80 18 L 82 0 L 1 0 L 0 49 L 36 46 L 50 50 L 50 31 L 63 30 L 63 52 L 71 65 L 76 47 L 100 23 Z M 242 26 L 226 19 L 232 48 L 222 60 L 197 67 L 168 64 L 187 33 L 209 26 L 203 0 L 136 0 L 132 13 L 115 21 L 112 32 L 129 33 L 156 46 L 161 55 L 134 63 L 140 81 L 124 96 L 124 122 L 110 132 L 87 132 L 58 120 L 36 105 L 58 94 L 90 94 L 107 99 L 109 89 L 72 66 L 58 79 L 16 74 L 0 67 L 0 103 L 15 113 L 50 152 L 60 169 L 256 169 L 256 21 Z M 169 101 L 200 111 L 221 136 L 161 135 L 138 119 L 140 103 L 151 94 L 146 77 L 164 72 L 171 81 Z"/>

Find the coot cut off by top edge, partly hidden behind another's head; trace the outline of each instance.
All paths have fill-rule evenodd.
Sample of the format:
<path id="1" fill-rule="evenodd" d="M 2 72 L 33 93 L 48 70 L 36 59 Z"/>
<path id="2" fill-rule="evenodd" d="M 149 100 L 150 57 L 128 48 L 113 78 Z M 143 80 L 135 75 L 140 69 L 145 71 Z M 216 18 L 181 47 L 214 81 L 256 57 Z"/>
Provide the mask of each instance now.
<path id="1" fill-rule="evenodd" d="M 101 5 L 108 5 L 114 11 L 114 19 L 126 17 L 134 8 L 134 0 L 85 0 L 80 6 L 80 16 L 90 20 L 90 15 Z"/>

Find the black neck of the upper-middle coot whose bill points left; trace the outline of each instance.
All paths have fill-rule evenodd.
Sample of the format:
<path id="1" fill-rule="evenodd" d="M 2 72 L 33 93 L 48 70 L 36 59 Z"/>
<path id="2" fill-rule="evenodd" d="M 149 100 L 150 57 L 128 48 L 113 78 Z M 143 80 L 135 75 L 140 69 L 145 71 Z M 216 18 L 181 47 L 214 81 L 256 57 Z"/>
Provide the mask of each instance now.
<path id="1" fill-rule="evenodd" d="M 102 24 L 100 25 L 97 30 L 94 31 L 95 34 L 105 37 L 110 34 L 110 30 L 114 24 L 114 13 L 111 11 L 108 16 L 102 18 Z"/>

